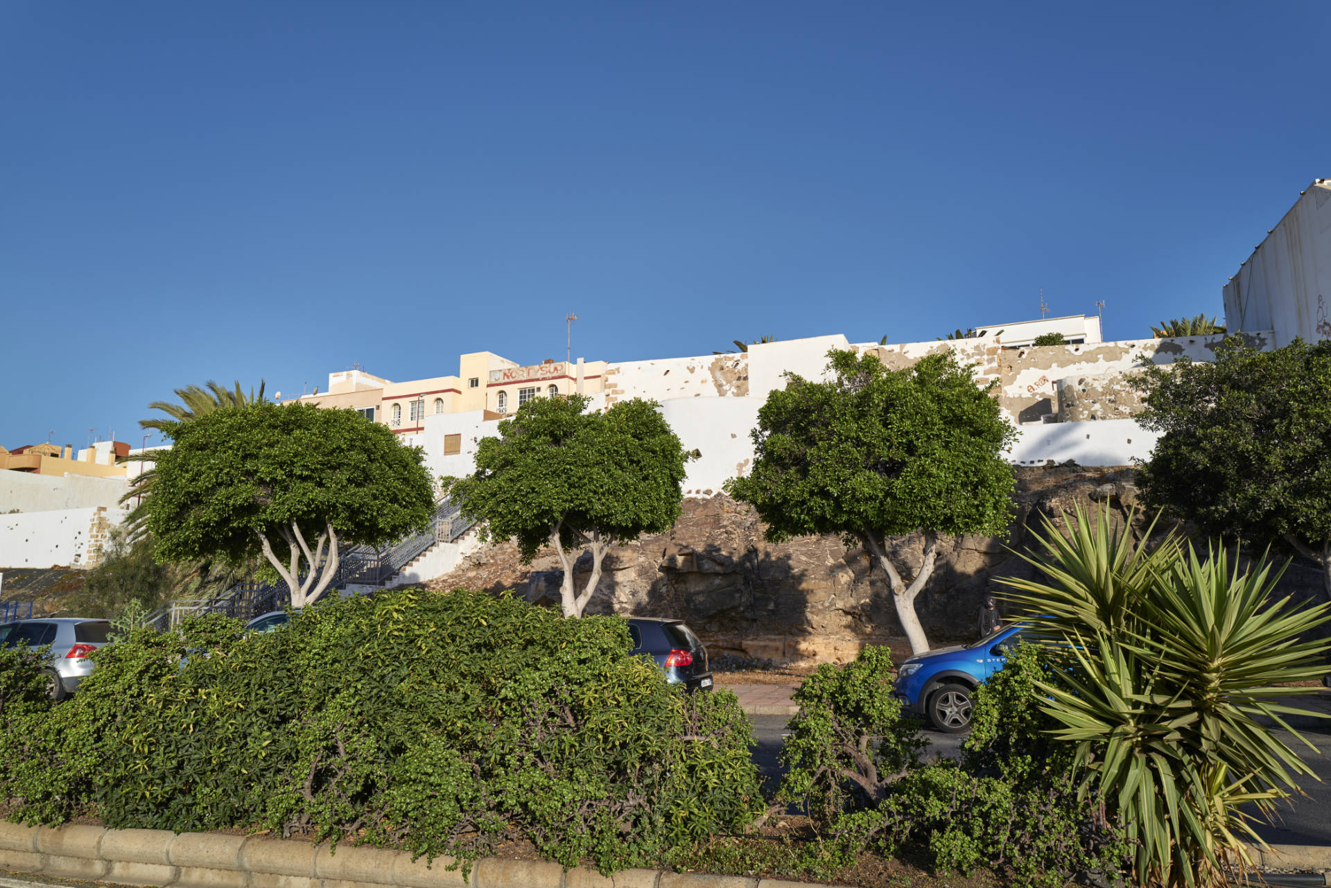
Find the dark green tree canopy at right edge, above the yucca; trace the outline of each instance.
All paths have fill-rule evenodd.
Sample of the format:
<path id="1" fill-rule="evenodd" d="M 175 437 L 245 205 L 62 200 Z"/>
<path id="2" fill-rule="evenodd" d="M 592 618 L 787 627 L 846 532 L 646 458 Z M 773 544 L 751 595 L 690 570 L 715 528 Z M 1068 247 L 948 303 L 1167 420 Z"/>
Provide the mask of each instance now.
<path id="1" fill-rule="evenodd" d="M 1331 595 L 1331 342 L 1258 351 L 1230 337 L 1215 361 L 1179 358 L 1135 378 L 1146 502 L 1206 534 L 1276 545 L 1323 568 Z"/>

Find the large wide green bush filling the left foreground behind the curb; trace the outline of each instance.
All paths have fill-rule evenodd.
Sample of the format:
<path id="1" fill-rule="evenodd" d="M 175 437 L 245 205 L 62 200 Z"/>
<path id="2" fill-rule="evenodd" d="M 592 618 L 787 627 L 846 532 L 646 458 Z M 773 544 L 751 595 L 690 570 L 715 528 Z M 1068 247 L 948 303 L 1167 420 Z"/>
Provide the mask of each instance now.
<path id="1" fill-rule="evenodd" d="M 105 730 L 88 739 L 95 766 L 44 795 L 23 772 L 20 815 L 57 823 L 95 807 L 110 827 L 265 825 L 463 859 L 528 839 L 610 871 L 743 831 L 764 809 L 735 696 L 668 686 L 627 655 L 620 618 L 401 590 L 321 603 L 266 635 L 240 628 L 104 648 L 118 654 L 56 710 L 68 727 L 81 702 Z M 108 718 L 108 692 L 132 679 Z"/>

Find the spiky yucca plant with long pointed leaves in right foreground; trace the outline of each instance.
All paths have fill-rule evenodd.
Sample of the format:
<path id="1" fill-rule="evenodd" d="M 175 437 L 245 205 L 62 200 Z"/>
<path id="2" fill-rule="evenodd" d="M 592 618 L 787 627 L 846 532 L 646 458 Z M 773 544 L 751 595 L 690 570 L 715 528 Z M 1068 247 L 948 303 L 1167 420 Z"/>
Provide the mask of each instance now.
<path id="1" fill-rule="evenodd" d="M 1171 535 L 1137 543 L 1131 515 L 1114 530 L 1107 507 L 1062 519 L 1067 534 L 1045 519 L 1044 551 L 1028 558 L 1047 582 L 1002 580 L 1066 646 L 1059 682 L 1040 684 L 1053 734 L 1077 744 L 1085 788 L 1115 805 L 1139 884 L 1223 884 L 1251 865 L 1247 843 L 1266 844 L 1240 807 L 1270 817 L 1312 776 L 1267 724 L 1307 743 L 1284 716 L 1316 714 L 1278 698 L 1308 691 L 1278 684 L 1324 671 L 1327 643 L 1308 631 L 1331 606 L 1276 600 L 1282 571 L 1264 558 L 1244 566 L 1219 545 L 1203 556 Z"/>

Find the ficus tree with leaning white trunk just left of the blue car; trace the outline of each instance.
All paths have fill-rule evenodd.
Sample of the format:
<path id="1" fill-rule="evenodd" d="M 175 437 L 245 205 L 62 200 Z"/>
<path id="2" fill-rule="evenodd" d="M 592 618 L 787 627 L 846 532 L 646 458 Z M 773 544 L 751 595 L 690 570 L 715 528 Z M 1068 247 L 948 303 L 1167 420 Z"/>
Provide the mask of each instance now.
<path id="1" fill-rule="evenodd" d="M 840 534 L 886 575 L 897 616 L 929 650 L 914 602 L 933 574 L 938 538 L 1008 533 L 1014 486 L 1002 451 L 1016 431 L 989 390 L 950 353 L 889 370 L 876 354 L 828 353 L 831 381 L 787 374 L 753 430 L 753 470 L 727 482 L 777 542 Z M 920 533 L 924 559 L 908 579 L 890 539 Z"/>

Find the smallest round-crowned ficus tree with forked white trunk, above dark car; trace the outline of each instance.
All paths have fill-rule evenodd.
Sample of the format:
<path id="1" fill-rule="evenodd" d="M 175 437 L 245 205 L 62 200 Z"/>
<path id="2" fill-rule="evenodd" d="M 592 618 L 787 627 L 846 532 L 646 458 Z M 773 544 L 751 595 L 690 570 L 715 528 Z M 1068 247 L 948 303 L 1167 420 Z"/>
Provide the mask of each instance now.
<path id="1" fill-rule="evenodd" d="M 582 616 L 615 543 L 669 530 L 679 518 L 688 455 L 652 401 L 584 413 L 588 399 L 534 398 L 476 447 L 476 470 L 445 478 L 483 539 L 515 539 L 524 563 L 550 546 L 563 567 L 560 604 Z M 575 551 L 591 575 L 574 587 Z"/>

